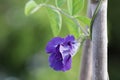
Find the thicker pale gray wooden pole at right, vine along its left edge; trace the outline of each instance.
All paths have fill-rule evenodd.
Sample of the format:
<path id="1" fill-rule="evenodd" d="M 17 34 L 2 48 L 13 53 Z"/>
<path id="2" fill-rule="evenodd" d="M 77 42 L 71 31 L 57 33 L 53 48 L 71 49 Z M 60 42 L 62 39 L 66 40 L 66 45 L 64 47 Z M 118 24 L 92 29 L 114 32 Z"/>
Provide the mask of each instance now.
<path id="1" fill-rule="evenodd" d="M 92 5 L 97 2 L 91 0 Z M 92 11 L 95 7 L 91 6 Z M 103 0 L 92 28 L 92 80 L 107 80 L 107 0 Z"/>

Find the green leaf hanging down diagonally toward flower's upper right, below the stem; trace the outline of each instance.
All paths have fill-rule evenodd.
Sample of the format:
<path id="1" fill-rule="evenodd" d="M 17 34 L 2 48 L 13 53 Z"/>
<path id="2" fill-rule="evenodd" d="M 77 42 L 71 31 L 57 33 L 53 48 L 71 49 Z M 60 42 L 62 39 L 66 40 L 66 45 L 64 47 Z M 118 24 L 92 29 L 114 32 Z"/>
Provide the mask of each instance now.
<path id="1" fill-rule="evenodd" d="M 80 37 L 80 28 L 77 24 L 75 24 L 75 22 L 68 17 L 64 17 L 64 19 L 70 34 L 74 35 L 76 38 Z"/>

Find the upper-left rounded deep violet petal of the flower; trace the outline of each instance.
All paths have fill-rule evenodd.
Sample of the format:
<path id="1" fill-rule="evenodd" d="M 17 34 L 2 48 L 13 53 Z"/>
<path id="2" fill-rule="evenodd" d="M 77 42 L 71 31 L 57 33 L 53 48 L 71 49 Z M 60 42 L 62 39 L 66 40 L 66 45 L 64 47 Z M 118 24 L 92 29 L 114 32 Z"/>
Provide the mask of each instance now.
<path id="1" fill-rule="evenodd" d="M 47 53 L 56 53 L 56 48 L 59 44 L 63 43 L 64 38 L 55 37 L 50 40 L 46 46 Z"/>

